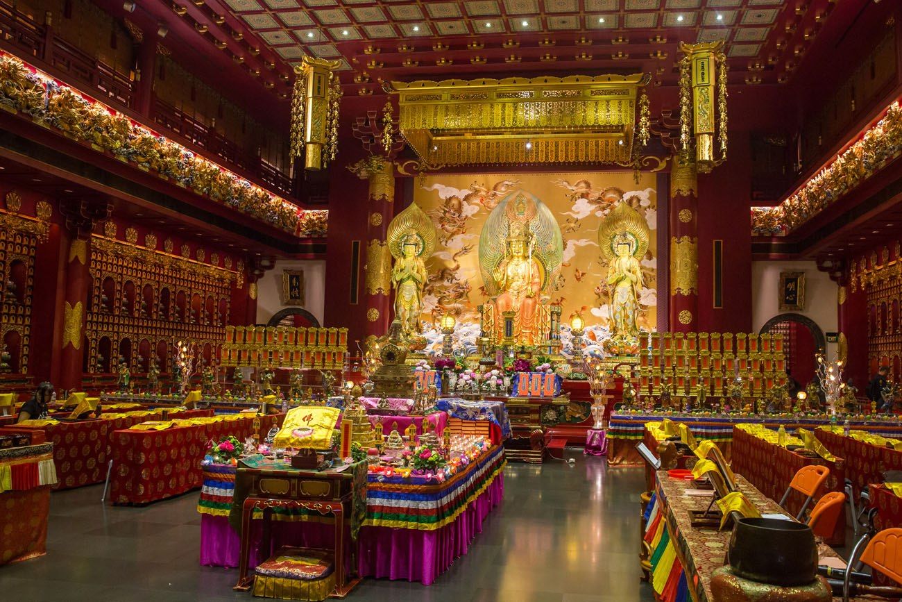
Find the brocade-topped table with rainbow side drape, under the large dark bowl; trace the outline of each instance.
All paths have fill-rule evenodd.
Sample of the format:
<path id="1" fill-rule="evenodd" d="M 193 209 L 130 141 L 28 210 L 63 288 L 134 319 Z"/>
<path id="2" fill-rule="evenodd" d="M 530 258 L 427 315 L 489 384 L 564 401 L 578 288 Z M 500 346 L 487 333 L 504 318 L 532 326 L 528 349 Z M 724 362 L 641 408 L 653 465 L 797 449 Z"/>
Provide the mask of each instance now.
<path id="1" fill-rule="evenodd" d="M 786 514 L 744 477 L 737 475 L 736 480 L 740 491 L 761 514 Z M 655 481 L 655 495 L 646 511 L 648 523 L 644 538 L 652 550 L 650 580 L 658 594 L 656 599 L 662 602 L 689 599 L 713 602 L 712 574 L 723 566 L 732 530 L 717 531 L 692 526 L 689 511 L 703 511 L 711 503 L 711 498 L 685 495 L 686 489 L 694 487 L 691 481 L 667 477 L 666 471 L 658 471 Z M 837 556 L 824 543 L 818 545 L 818 553 L 822 559 Z"/>

